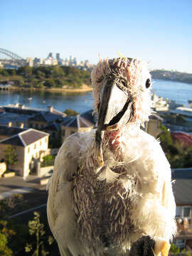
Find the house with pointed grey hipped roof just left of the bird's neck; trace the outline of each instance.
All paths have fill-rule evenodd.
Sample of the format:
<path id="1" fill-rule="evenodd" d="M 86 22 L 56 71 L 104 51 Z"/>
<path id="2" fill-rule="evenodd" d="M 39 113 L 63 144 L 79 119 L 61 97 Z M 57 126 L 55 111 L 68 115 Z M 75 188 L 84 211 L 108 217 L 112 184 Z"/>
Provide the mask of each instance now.
<path id="1" fill-rule="evenodd" d="M 75 132 L 90 132 L 95 124 L 78 114 L 75 117 L 64 117 L 60 126 L 62 141 L 64 141 L 70 134 Z"/>

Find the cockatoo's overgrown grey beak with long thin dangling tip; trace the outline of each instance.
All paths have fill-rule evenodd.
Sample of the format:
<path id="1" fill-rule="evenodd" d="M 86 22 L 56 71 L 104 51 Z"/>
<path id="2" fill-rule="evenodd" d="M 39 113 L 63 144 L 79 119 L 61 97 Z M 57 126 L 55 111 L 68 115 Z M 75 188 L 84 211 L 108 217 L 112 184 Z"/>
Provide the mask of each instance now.
<path id="1" fill-rule="evenodd" d="M 125 115 L 127 122 L 129 122 L 132 116 L 131 101 L 129 95 L 121 90 L 113 80 L 107 80 L 103 85 L 100 92 L 100 106 L 95 135 L 96 158 L 100 166 L 103 165 L 102 138 L 104 131 L 117 129 L 119 123 L 122 122 L 122 117 Z"/>

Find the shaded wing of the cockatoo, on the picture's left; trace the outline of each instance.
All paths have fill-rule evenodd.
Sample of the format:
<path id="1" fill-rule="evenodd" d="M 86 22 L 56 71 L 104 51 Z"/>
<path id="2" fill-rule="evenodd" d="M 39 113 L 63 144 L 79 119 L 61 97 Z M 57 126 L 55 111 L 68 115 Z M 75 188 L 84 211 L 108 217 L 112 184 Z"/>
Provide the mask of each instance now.
<path id="1" fill-rule="evenodd" d="M 53 176 L 48 186 L 48 223 L 63 256 L 78 255 L 75 241 L 76 221 L 73 205 L 73 176 L 78 169 L 80 135 L 71 135 L 55 158 Z"/>

